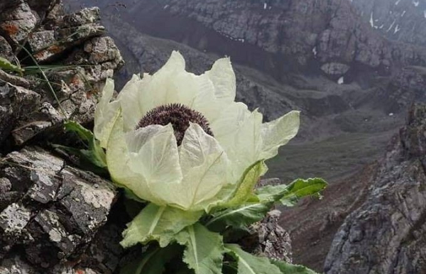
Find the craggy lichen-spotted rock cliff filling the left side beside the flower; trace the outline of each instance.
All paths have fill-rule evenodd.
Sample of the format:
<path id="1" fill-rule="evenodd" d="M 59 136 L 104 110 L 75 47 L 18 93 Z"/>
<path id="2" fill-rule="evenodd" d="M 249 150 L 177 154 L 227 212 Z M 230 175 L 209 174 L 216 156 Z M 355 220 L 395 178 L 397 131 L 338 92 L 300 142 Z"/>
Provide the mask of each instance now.
<path id="1" fill-rule="evenodd" d="M 116 189 L 49 143 L 73 139 L 65 120 L 92 122 L 123 59 L 97 8 L 17 0 L 0 10 L 0 56 L 20 68 L 0 69 L 0 273 L 111 273 L 126 221 L 107 224 Z"/>

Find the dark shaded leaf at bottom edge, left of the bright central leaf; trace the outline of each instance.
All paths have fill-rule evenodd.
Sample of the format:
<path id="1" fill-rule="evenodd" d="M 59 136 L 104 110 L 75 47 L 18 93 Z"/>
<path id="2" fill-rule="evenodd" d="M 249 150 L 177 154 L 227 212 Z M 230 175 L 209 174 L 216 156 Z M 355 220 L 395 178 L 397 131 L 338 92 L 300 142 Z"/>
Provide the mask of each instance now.
<path id="1" fill-rule="evenodd" d="M 121 268 L 120 274 L 161 274 L 165 264 L 181 252 L 181 247 L 174 244 L 165 248 L 155 247 L 141 253 L 135 260 Z"/>

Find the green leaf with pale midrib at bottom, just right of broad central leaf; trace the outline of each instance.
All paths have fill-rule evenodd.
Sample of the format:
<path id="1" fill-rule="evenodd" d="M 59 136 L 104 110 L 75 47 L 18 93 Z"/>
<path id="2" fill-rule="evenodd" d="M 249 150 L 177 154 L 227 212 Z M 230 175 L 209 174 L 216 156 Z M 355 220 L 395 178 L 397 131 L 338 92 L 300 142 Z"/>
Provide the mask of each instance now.
<path id="1" fill-rule="evenodd" d="M 225 249 L 238 263 L 238 274 L 282 274 L 268 258 L 253 256 L 237 244 L 226 244 Z"/>

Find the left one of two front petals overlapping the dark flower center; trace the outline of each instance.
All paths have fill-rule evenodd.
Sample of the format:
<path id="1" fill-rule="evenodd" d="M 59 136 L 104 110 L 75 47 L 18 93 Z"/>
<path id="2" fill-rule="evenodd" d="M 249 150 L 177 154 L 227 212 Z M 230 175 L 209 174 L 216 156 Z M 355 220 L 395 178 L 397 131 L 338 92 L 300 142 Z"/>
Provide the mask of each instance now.
<path id="1" fill-rule="evenodd" d="M 175 204 L 182 172 L 173 127 L 171 124 L 147 126 L 133 132 L 139 140 L 133 139 L 128 148 L 140 146 L 140 149 L 130 153 L 131 170 L 143 175 L 153 196 L 167 204 Z"/>

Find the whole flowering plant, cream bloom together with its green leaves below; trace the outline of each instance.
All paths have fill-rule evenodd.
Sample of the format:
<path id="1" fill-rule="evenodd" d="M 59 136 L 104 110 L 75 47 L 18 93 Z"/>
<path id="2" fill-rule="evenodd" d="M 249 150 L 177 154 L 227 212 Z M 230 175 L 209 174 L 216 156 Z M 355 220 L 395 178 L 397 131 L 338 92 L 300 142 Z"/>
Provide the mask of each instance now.
<path id="1" fill-rule="evenodd" d="M 297 134 L 299 111 L 262 123 L 257 109 L 234 102 L 229 58 L 194 75 L 178 52 L 155 74 L 134 75 L 116 99 L 113 93 L 107 80 L 86 154 L 129 197 L 146 203 L 121 245 L 148 247 L 121 273 L 313 273 L 226 239 L 261 221 L 274 204 L 319 196 L 327 185 L 313 178 L 255 190 L 265 160 Z"/>

